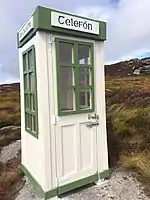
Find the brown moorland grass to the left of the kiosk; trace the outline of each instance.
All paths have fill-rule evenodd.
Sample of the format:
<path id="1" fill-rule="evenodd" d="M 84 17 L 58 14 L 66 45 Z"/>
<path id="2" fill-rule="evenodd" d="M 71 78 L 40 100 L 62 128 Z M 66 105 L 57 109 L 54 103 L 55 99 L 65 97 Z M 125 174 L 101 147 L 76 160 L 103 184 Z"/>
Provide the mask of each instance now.
<path id="1" fill-rule="evenodd" d="M 20 139 L 20 94 L 19 88 L 11 85 L 1 87 L 0 92 L 0 152 L 2 147 Z M 11 127 L 9 127 L 11 126 Z M 18 127 L 15 127 L 18 126 Z M 7 164 L 0 163 L 0 199 L 14 200 L 23 187 L 20 170 L 20 152 Z"/>

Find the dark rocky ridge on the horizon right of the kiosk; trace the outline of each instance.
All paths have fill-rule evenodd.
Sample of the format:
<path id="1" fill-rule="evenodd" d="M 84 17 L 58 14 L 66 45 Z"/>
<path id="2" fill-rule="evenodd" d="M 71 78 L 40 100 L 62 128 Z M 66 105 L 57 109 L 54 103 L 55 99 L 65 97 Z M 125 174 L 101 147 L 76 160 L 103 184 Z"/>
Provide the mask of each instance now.
<path id="1" fill-rule="evenodd" d="M 139 74 L 150 75 L 150 57 L 105 65 L 106 76 L 127 77 Z"/>

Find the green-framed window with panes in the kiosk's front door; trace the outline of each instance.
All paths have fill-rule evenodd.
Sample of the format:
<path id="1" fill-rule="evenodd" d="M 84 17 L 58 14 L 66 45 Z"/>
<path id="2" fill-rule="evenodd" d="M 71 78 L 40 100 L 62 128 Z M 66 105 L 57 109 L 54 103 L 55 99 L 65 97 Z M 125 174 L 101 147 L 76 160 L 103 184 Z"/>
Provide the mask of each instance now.
<path id="1" fill-rule="evenodd" d="M 94 110 L 93 44 L 56 40 L 58 113 Z"/>

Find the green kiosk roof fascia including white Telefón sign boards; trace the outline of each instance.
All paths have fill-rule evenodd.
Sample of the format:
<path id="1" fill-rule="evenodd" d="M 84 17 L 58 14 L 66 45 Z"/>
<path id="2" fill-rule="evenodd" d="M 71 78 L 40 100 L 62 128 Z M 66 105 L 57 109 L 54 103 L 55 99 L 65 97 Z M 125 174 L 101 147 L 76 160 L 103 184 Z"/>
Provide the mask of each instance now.
<path id="1" fill-rule="evenodd" d="M 17 33 L 18 47 L 22 47 L 38 30 L 98 41 L 106 40 L 106 22 L 37 6 Z"/>

